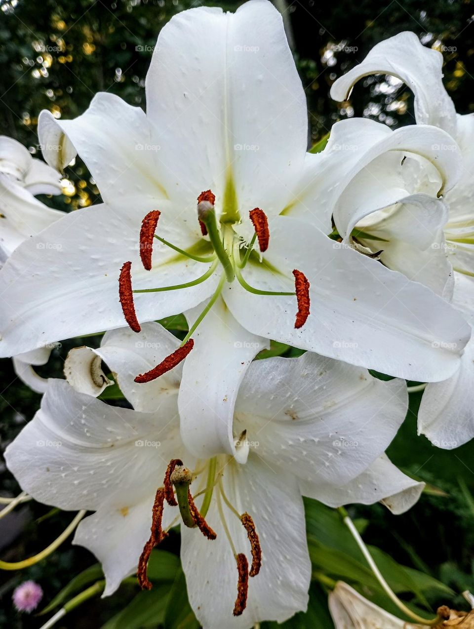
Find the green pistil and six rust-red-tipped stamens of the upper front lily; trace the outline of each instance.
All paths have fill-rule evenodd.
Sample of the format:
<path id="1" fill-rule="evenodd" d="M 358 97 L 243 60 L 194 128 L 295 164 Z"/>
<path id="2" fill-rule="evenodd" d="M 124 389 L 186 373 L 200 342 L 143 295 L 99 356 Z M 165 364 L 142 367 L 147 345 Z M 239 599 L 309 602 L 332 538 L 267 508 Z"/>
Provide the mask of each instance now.
<path id="1" fill-rule="evenodd" d="M 202 310 L 202 313 L 197 317 L 196 321 L 191 326 L 179 349 L 173 352 L 154 369 L 146 372 L 146 374 L 140 374 L 140 376 L 137 376 L 135 382 L 150 382 L 168 370 L 173 369 L 173 367 L 175 367 L 187 356 L 194 345 L 192 334 L 212 308 L 213 304 L 216 303 L 216 300 L 219 298 L 226 282 L 230 284 L 236 279 L 239 284 L 251 294 L 295 296 L 298 307 L 295 318 L 295 328 L 300 328 L 304 325 L 304 323 L 306 323 L 309 316 L 309 282 L 300 270 L 293 270 L 295 291 L 292 292 L 261 290 L 248 284 L 242 275 L 242 270 L 245 269 L 250 260 L 255 264 L 263 264 L 265 270 L 272 273 L 271 265 L 265 264 L 265 260 L 262 258 L 262 253 L 267 250 L 270 243 L 268 220 L 262 209 L 254 208 L 250 211 L 249 218 L 255 233 L 250 242 L 245 242 L 245 240 L 243 240 L 243 238 L 241 238 L 233 228 L 235 221 L 229 220 L 228 217 L 226 218 L 227 215 L 221 216 L 218 223 L 215 203 L 216 197 L 211 190 L 201 192 L 197 198 L 197 219 L 201 227 L 203 238 L 209 238 L 209 243 L 211 243 L 212 249 L 214 250 L 211 255 L 196 255 L 194 252 L 185 251 L 158 235 L 156 232 L 158 220 L 160 218 L 159 210 L 153 210 L 146 214 L 141 223 L 140 258 L 144 269 L 152 270 L 153 242 L 155 241 L 155 238 L 167 247 L 170 247 L 180 253 L 180 255 L 187 257 L 188 259 L 195 260 L 196 262 L 201 262 L 202 264 L 208 264 L 209 267 L 204 274 L 193 281 L 186 282 L 185 284 L 133 290 L 131 281 L 131 262 L 125 262 L 121 268 L 119 276 L 119 299 L 124 318 L 133 331 L 140 332 L 141 330 L 140 322 L 138 321 L 135 310 L 134 294 L 178 291 L 197 286 L 198 284 L 205 282 L 209 279 L 209 277 L 213 276 L 214 273 L 219 272 L 219 265 L 221 267 L 221 277 L 214 294 L 212 294 L 209 302 Z M 260 253 L 257 253 L 254 249 L 256 242 L 258 242 Z"/>

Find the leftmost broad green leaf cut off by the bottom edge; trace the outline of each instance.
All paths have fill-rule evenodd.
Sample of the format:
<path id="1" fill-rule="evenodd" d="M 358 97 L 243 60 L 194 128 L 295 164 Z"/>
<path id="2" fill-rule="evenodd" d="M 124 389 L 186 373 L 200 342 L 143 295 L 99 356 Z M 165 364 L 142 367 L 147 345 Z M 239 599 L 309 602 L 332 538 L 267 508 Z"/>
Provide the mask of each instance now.
<path id="1" fill-rule="evenodd" d="M 169 583 L 140 592 L 123 610 L 107 620 L 102 629 L 141 629 L 162 625 L 169 595 Z"/>

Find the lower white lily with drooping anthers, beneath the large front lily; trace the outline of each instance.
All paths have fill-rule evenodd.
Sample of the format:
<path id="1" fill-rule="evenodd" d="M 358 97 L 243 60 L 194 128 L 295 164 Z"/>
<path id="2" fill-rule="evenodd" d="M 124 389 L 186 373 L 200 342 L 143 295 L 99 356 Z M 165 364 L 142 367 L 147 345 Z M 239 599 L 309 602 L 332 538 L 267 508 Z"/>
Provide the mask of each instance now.
<path id="1" fill-rule="evenodd" d="M 40 411 L 6 450 L 8 467 L 39 501 L 96 511 L 80 523 L 74 541 L 101 560 L 107 595 L 136 571 L 154 503 L 155 533 L 160 511 L 163 532 L 181 517 L 189 524 L 188 499 L 183 503 L 178 491 L 179 508 L 155 501 L 155 494 L 163 501 L 158 487 L 168 463 L 181 459 L 193 470 L 190 489 L 206 518 L 199 525 L 210 537 L 181 526 L 182 565 L 197 618 L 216 629 L 284 621 L 306 609 L 311 579 L 301 494 L 331 506 L 382 499 L 395 513 L 419 498 L 422 483 L 383 455 L 404 420 L 404 382 L 378 381 L 365 369 L 312 353 L 256 360 L 234 410 L 238 457 L 223 450 L 196 460 L 180 437 L 182 365 L 159 381 L 134 380 L 178 346 L 177 338 L 148 323 L 140 335 L 123 328 L 106 333 L 97 350 L 72 350 L 66 372 L 74 387 L 98 392 L 99 357 L 135 410 L 50 381 Z M 159 538 L 152 535 L 152 543 Z"/>

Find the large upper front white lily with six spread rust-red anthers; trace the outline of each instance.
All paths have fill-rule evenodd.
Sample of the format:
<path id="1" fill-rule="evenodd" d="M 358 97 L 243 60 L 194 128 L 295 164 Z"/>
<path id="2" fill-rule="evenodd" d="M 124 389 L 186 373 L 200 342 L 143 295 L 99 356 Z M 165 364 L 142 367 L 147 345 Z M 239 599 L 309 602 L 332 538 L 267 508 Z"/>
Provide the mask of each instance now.
<path id="1" fill-rule="evenodd" d="M 341 150 L 306 152 L 306 99 L 272 4 L 172 18 L 146 97 L 146 115 L 106 93 L 75 120 L 41 113 L 45 159 L 61 169 L 77 151 L 105 204 L 66 216 L 8 262 L 3 355 L 117 328 L 124 316 L 138 330 L 186 312 L 184 347 L 146 377 L 190 352 L 184 389 L 199 374 L 196 412 L 215 435 L 186 443 L 200 457 L 235 453 L 223 400 L 235 399 L 263 338 L 410 379 L 455 371 L 470 335 L 460 316 L 400 274 L 334 248 L 317 227 L 331 230 L 331 204 L 375 154 L 358 121 L 339 126 Z M 447 137 L 429 127 L 395 131 L 377 152 L 420 153 L 450 187 L 456 162 L 432 148 Z M 192 422 L 187 406 L 180 413 Z"/>

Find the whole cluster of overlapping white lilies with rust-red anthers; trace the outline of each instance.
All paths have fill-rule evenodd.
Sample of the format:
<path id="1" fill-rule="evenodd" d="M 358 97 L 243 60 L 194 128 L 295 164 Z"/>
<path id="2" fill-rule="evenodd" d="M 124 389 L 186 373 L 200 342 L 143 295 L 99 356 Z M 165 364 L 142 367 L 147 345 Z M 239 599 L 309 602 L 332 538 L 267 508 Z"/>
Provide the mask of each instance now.
<path id="1" fill-rule="evenodd" d="M 434 445 L 474 436 L 474 123 L 441 65 L 412 33 L 378 44 L 331 95 L 394 74 L 417 124 L 339 121 L 311 153 L 280 14 L 200 7 L 160 32 L 146 113 L 105 92 L 74 120 L 41 112 L 47 164 L 0 143 L 0 353 L 44 393 L 6 462 L 33 498 L 94 511 L 75 543 L 104 595 L 135 572 L 151 587 L 150 553 L 180 525 L 205 628 L 284 621 L 308 601 L 302 496 L 394 513 L 419 498 L 385 455 L 405 380 L 427 383 Z M 33 194 L 76 154 L 103 203 L 63 215 Z M 181 313 L 182 340 L 157 323 Z M 71 350 L 65 380 L 33 370 L 104 331 Z M 265 358 L 271 340 L 302 355 Z M 97 399 L 114 382 L 131 408 Z"/>

